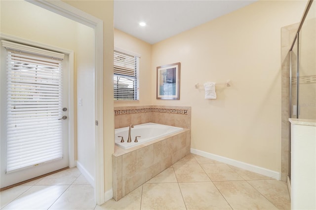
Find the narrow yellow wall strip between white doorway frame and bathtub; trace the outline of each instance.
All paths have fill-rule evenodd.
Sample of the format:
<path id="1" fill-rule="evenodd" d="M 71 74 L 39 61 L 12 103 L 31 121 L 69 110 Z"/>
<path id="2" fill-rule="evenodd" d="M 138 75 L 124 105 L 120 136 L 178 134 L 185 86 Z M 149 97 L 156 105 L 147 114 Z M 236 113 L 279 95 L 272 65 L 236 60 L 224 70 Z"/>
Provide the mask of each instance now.
<path id="1" fill-rule="evenodd" d="M 112 188 L 112 154 L 114 153 L 113 0 L 64 0 L 64 2 L 103 20 L 104 176 L 105 191 L 108 191 Z"/>

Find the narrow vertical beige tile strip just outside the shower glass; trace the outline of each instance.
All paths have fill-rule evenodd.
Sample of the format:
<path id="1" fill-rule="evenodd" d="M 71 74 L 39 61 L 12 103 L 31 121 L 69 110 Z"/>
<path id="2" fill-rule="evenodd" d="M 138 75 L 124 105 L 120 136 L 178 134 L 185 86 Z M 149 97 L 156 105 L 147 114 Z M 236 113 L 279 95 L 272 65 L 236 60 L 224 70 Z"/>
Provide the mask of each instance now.
<path id="1" fill-rule="evenodd" d="M 281 180 L 286 181 L 289 170 L 289 49 L 293 43 L 299 24 L 281 28 Z"/>

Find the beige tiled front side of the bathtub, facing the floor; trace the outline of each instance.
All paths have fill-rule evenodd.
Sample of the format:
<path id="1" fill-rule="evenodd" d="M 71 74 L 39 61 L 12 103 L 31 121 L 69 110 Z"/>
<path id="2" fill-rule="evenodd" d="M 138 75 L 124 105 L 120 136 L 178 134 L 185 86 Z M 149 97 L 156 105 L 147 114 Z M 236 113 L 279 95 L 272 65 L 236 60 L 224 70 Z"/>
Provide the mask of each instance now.
<path id="1" fill-rule="evenodd" d="M 191 130 L 138 145 L 130 149 L 116 146 L 112 155 L 113 198 L 118 201 L 190 153 Z"/>

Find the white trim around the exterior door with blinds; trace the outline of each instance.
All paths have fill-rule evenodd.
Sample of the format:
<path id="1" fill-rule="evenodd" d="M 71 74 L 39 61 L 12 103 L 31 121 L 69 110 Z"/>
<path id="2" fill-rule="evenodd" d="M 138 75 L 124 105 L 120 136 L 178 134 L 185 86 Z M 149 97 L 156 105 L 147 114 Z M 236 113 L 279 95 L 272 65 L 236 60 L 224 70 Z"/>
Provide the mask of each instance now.
<path id="1" fill-rule="evenodd" d="M 75 167 L 75 140 L 74 140 L 74 51 L 51 46 L 44 43 L 39 43 L 36 41 L 28 40 L 25 38 L 21 38 L 18 36 L 13 35 L 7 35 L 4 33 L 0 33 L 0 39 L 1 40 L 7 40 L 12 42 L 18 42 L 21 44 L 25 44 L 28 46 L 34 46 L 39 48 L 45 48 L 47 50 L 55 51 L 55 52 L 61 52 L 63 54 L 68 55 L 68 154 L 69 154 L 69 167 Z"/>

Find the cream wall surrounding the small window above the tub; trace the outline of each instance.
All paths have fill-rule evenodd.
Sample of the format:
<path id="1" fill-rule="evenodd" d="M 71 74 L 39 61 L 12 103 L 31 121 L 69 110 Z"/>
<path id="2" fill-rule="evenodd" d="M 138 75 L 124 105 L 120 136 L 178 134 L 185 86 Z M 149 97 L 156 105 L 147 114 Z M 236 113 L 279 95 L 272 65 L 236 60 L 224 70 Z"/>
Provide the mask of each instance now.
<path id="1" fill-rule="evenodd" d="M 152 61 L 152 45 L 114 29 L 114 46 L 134 52 L 141 55 L 139 61 L 139 101 L 137 102 L 114 102 L 114 106 L 125 105 L 150 105 L 151 104 L 151 90 L 153 88 L 151 83 L 151 61 Z"/>

